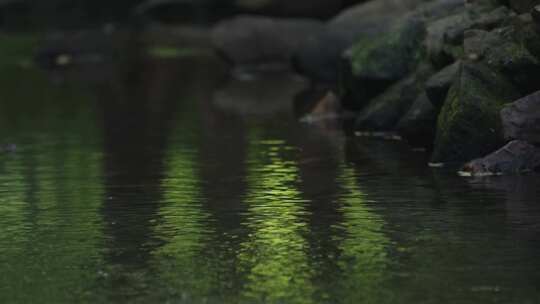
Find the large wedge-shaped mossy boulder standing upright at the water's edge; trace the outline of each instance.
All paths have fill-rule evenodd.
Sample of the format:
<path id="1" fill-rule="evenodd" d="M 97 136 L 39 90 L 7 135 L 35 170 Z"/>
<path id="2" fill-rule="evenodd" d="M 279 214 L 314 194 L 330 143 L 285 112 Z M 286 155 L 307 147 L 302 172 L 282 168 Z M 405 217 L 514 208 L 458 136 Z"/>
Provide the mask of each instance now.
<path id="1" fill-rule="evenodd" d="M 437 121 L 432 162 L 462 162 L 504 144 L 500 110 L 519 97 L 501 73 L 482 63 L 463 62 Z"/>

